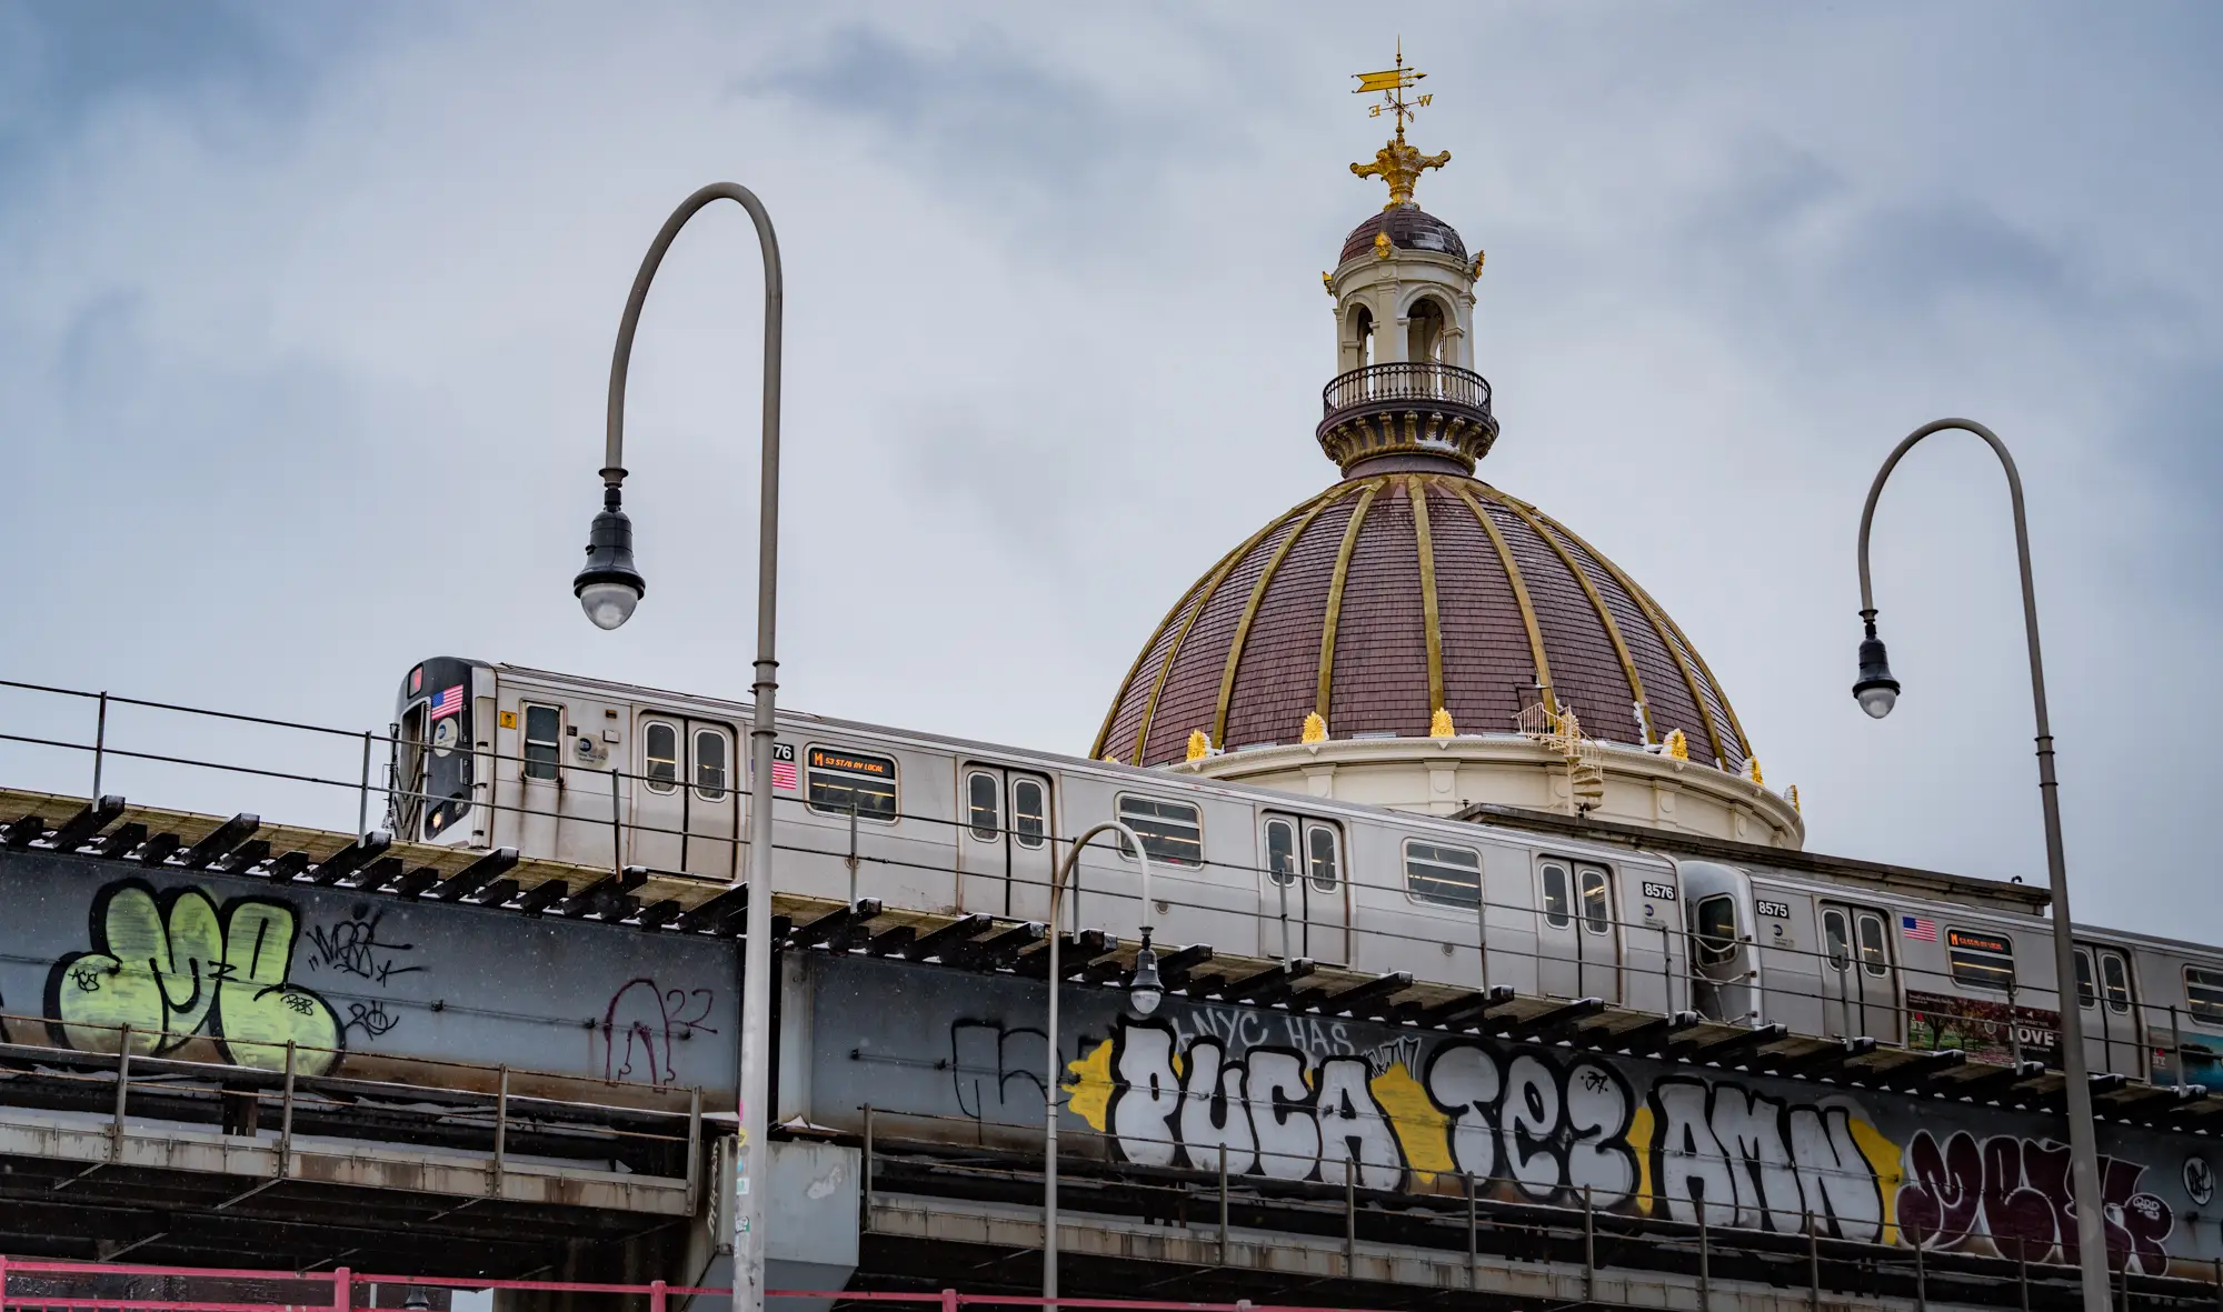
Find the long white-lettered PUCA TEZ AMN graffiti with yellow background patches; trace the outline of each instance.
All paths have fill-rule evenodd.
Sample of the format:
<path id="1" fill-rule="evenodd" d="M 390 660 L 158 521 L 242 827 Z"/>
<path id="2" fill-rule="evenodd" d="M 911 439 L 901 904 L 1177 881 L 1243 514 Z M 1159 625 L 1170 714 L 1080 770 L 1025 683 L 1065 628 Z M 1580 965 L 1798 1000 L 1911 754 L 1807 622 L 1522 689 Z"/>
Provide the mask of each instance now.
<path id="1" fill-rule="evenodd" d="M 1632 1090 L 1567 1050 L 1400 1038 L 1238 1056 L 1216 1034 L 1120 1023 L 1067 1065 L 1071 1114 L 1143 1165 L 1367 1190 L 1463 1190 L 1714 1225 L 1896 1241 L 1898 1145 L 1850 1099 L 1792 1105 L 1727 1081 Z"/>

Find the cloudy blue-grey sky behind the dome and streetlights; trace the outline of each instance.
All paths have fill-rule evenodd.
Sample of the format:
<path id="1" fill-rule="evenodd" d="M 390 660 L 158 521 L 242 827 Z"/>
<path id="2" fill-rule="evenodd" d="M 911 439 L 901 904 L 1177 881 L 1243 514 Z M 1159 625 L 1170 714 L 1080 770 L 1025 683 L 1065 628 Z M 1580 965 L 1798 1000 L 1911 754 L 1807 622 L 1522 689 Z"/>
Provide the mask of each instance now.
<path id="1" fill-rule="evenodd" d="M 631 362 L 649 596 L 569 594 L 658 225 L 787 271 L 780 700 L 1085 752 L 1136 647 L 1325 487 L 1318 271 L 1378 205 L 1487 249 L 1481 476 L 1652 592 L 1810 847 L 2045 878 L 1998 467 L 2027 480 L 2076 918 L 2223 941 L 2223 11 L 2207 4 L 24 4 L 0 0 L 0 678 L 382 727 L 431 654 L 738 696 L 758 251 L 698 218 Z M 89 703 L 0 696 L 84 741 Z M 116 712 L 356 778 L 347 738 Z M 349 794 L 104 789 L 353 823 Z M 0 781 L 84 758 L 0 745 Z M 153 792 L 149 792 L 153 789 Z M 293 809 L 289 809 L 293 807 Z"/>

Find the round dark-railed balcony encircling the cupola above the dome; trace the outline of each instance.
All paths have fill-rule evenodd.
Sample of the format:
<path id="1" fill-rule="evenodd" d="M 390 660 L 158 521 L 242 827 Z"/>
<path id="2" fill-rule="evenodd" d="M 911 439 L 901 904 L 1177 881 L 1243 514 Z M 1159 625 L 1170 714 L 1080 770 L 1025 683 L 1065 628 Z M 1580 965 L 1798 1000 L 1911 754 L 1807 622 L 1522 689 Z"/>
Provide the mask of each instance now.
<path id="1" fill-rule="evenodd" d="M 1489 380 L 1432 360 L 1365 365 L 1320 391 L 1320 449 L 1345 474 L 1378 456 L 1481 460 L 1498 438 Z"/>

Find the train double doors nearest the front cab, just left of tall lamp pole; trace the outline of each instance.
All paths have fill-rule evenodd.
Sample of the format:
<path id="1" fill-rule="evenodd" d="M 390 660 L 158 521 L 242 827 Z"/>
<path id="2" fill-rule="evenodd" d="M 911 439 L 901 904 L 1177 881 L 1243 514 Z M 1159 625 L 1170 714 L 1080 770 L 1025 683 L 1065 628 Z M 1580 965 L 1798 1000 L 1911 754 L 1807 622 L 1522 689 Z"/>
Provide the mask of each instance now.
<path id="1" fill-rule="evenodd" d="M 720 720 L 669 712 L 636 716 L 627 865 L 716 878 L 734 878 L 740 872 L 736 741 L 734 725 Z"/>

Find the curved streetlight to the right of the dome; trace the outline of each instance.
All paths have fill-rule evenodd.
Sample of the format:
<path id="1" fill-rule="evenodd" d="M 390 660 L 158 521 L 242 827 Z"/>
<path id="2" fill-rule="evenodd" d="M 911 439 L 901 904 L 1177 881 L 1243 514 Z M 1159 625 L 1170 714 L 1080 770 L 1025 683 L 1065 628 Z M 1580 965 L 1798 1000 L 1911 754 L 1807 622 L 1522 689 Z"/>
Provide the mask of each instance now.
<path id="1" fill-rule="evenodd" d="M 1883 640 L 1876 638 L 1876 596 L 1867 583 L 1867 527 L 1876 518 L 1876 498 L 1883 483 L 1898 467 L 1914 443 L 1943 429 L 1963 429 L 1990 443 L 1992 454 L 2007 469 L 2007 494 L 2014 500 L 2014 556 L 2023 567 L 2023 632 L 2030 638 L 2030 700 L 2038 714 L 2038 801 L 2045 807 L 2045 876 L 2052 883 L 2054 901 L 2054 996 L 2061 1010 L 2061 1079 L 2067 1083 L 2070 1103 L 2070 1179 L 2076 1190 L 2076 1250 L 2083 1261 L 2085 1312 L 2107 1312 L 2107 1227 L 2101 1214 L 2099 1194 L 2099 1141 L 2092 1130 L 2092 1079 L 2085 1072 L 2083 1018 L 2076 1014 L 2072 981 L 2076 978 L 2076 941 L 2070 921 L 2070 874 L 2061 854 L 2061 798 L 2054 781 L 2054 732 L 2045 716 L 2045 665 L 2038 660 L 2038 594 L 2030 583 L 2030 525 L 2023 520 L 2023 476 L 2014 469 L 2007 445 L 1981 423 L 1965 418 L 1941 418 L 1927 423 L 1898 443 L 1892 458 L 1876 471 L 1876 485 L 1867 489 L 1867 509 L 1861 511 L 1861 623 L 1867 638 L 1861 640 L 1861 680 L 1852 685 L 1852 696 L 1861 700 L 1874 718 L 1892 714 L 1898 700 L 1898 680 L 1883 656 Z"/>

